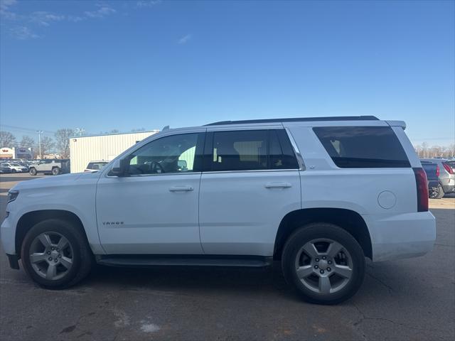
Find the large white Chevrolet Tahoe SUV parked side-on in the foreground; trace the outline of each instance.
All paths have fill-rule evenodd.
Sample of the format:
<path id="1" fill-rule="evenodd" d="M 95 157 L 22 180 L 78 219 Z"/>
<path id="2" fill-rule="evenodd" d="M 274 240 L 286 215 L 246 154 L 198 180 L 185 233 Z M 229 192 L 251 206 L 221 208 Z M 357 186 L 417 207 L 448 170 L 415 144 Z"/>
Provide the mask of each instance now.
<path id="1" fill-rule="evenodd" d="M 1 238 L 45 288 L 92 264 L 267 266 L 307 301 L 352 296 L 373 261 L 435 239 L 402 121 L 325 117 L 167 129 L 97 173 L 18 183 Z"/>

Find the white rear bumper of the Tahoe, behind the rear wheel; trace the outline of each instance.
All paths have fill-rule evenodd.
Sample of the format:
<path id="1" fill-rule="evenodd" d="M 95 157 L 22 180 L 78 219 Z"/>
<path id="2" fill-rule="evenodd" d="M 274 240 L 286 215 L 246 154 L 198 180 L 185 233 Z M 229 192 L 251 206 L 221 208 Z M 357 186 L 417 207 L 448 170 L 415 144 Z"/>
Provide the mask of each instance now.
<path id="1" fill-rule="evenodd" d="M 431 212 L 363 215 L 368 225 L 373 261 L 417 257 L 432 251 L 436 220 Z"/>

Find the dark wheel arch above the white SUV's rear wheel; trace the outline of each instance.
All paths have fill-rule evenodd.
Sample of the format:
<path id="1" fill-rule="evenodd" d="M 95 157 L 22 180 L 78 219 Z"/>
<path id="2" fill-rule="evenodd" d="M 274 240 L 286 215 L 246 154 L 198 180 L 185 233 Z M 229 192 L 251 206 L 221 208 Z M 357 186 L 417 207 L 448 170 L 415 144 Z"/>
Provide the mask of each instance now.
<path id="1" fill-rule="evenodd" d="M 358 212 L 342 208 L 305 208 L 285 215 L 279 224 L 274 244 L 274 259 L 279 260 L 289 236 L 299 227 L 313 222 L 336 224 L 350 233 L 363 249 L 363 254 L 373 259 L 370 232 L 363 217 Z"/>

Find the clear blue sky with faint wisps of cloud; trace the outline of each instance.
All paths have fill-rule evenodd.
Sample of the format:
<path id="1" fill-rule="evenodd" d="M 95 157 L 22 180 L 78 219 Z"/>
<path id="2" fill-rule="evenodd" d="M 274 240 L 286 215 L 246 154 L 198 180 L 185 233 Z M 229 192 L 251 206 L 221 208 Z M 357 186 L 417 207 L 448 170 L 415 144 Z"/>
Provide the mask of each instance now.
<path id="1" fill-rule="evenodd" d="M 454 1 L 0 2 L 0 124 L 18 138 L 376 115 L 454 143 Z"/>

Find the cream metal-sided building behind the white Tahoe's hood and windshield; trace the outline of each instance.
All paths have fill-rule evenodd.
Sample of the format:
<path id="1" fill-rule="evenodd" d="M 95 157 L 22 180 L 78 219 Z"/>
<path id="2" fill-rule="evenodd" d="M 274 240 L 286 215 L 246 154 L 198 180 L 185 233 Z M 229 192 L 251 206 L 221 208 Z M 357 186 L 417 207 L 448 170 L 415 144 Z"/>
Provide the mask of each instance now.
<path id="1" fill-rule="evenodd" d="M 111 161 L 127 148 L 158 132 L 74 137 L 70 139 L 71 173 L 83 172 L 90 161 Z"/>

